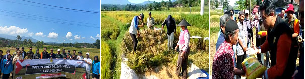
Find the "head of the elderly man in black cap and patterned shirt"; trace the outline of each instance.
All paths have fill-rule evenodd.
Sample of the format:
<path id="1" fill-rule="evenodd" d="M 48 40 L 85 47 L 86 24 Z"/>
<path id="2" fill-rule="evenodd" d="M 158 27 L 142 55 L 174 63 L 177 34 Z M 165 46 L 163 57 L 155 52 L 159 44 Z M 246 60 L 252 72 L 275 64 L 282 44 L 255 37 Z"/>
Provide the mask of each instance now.
<path id="1" fill-rule="evenodd" d="M 237 23 L 234 20 L 228 20 L 225 26 L 224 39 L 230 43 L 231 46 L 237 44 L 239 32 Z"/>

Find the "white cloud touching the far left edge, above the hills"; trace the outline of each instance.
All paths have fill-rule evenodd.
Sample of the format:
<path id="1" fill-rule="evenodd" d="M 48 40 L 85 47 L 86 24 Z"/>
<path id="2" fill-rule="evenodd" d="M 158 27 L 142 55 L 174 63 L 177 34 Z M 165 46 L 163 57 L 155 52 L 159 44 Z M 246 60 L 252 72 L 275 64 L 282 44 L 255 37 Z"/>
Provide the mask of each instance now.
<path id="1" fill-rule="evenodd" d="M 0 26 L 0 34 L 19 35 L 19 34 L 25 34 L 27 32 L 28 32 L 27 28 L 21 29 L 21 28 L 16 27 L 16 26 L 10 26 L 10 27 Z"/>

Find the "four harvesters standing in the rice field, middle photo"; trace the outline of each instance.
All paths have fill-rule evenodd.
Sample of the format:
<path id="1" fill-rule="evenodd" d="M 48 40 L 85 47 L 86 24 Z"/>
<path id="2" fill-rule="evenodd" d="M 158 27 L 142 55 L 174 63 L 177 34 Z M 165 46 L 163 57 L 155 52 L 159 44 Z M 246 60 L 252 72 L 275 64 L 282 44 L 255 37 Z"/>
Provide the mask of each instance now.
<path id="1" fill-rule="evenodd" d="M 129 28 L 129 34 L 133 41 L 133 53 L 136 52 L 137 47 L 137 37 L 140 36 L 139 33 L 139 27 L 144 26 L 143 22 L 144 14 L 141 13 L 138 16 L 134 16 L 130 28 Z M 139 21 L 142 21 L 142 24 L 139 24 Z M 148 29 L 154 29 L 159 30 L 158 28 L 154 27 L 154 18 L 151 17 L 151 12 L 149 12 L 149 17 L 147 18 L 147 27 Z M 173 47 L 173 41 L 174 41 L 174 33 L 176 33 L 176 22 L 175 19 L 172 17 L 172 15 L 168 15 L 166 19 L 162 22 L 162 28 L 166 25 L 167 28 L 167 37 L 168 37 L 168 50 L 175 50 L 179 52 L 179 57 L 177 60 L 177 68 L 176 68 L 176 75 L 178 77 L 187 78 L 187 61 L 188 61 L 188 55 L 190 52 L 189 44 L 190 44 L 190 34 L 187 29 L 187 26 L 191 26 L 186 20 L 182 20 L 177 26 L 180 26 L 180 35 L 179 40 L 177 43 L 177 46 Z"/>

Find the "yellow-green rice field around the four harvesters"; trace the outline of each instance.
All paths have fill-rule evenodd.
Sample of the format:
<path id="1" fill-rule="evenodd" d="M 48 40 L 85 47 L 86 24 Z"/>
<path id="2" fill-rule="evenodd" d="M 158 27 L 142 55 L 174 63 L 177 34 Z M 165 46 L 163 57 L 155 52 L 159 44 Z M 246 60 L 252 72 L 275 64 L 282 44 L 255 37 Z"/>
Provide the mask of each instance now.
<path id="1" fill-rule="evenodd" d="M 167 64 L 167 63 L 173 63 L 176 65 L 177 60 L 175 61 L 175 57 L 177 57 L 177 54 L 173 53 L 174 51 L 166 51 L 167 50 L 167 37 L 166 37 L 166 28 L 163 30 L 162 34 L 162 42 L 161 42 L 161 47 L 163 48 L 162 50 L 158 51 L 157 53 L 157 44 L 159 42 L 159 39 L 157 36 L 160 36 L 160 31 L 159 32 L 154 32 L 152 30 L 146 30 L 147 33 L 152 33 L 148 34 L 148 41 L 144 37 L 144 32 L 143 28 L 140 28 L 141 32 L 141 38 L 138 38 L 139 44 L 138 44 L 138 50 L 142 50 L 140 53 L 138 52 L 137 54 L 130 54 L 130 50 L 132 50 L 132 40 L 130 38 L 129 33 L 127 30 L 130 27 L 131 20 L 134 16 L 139 15 L 141 12 L 144 13 L 145 18 L 144 18 L 144 24 L 146 23 L 146 19 L 149 15 L 147 15 L 149 12 L 152 13 L 152 17 L 155 19 L 155 27 L 161 28 L 161 23 L 169 14 L 171 14 L 175 20 L 176 24 L 178 24 L 182 19 L 186 19 L 192 26 L 188 27 L 191 36 L 201 36 L 201 37 L 209 37 L 209 8 L 205 7 L 205 12 L 204 15 L 201 16 L 199 14 L 198 9 L 200 10 L 199 7 L 193 7 L 191 14 L 189 13 L 189 8 L 171 8 L 170 11 L 109 11 L 109 12 L 101 12 L 101 40 L 106 41 L 106 43 L 109 45 L 111 55 L 104 55 L 101 54 L 102 57 L 109 58 L 111 57 L 111 68 L 109 71 L 113 75 L 110 77 L 107 76 L 106 78 L 120 78 L 120 65 L 121 65 L 121 56 L 123 54 L 127 55 L 127 58 L 130 62 L 128 62 L 128 65 L 135 69 L 138 70 L 137 72 L 145 72 L 153 67 L 156 67 L 160 64 Z M 139 24 L 142 23 L 141 21 Z M 147 26 L 144 26 L 147 29 Z M 117 28 L 117 29 L 114 29 Z M 177 27 L 179 30 L 180 27 Z M 177 43 L 178 40 L 176 40 L 179 36 L 179 31 L 174 35 L 174 43 Z M 111 36 L 116 36 L 116 38 L 112 38 Z M 125 47 L 125 44 L 123 44 L 123 38 L 125 41 L 127 41 L 127 49 Z M 157 39 L 158 38 L 158 39 Z M 149 47 L 147 46 L 147 43 L 149 43 L 152 46 L 152 50 L 154 52 L 154 55 L 152 55 Z M 199 68 L 202 68 L 206 71 L 208 71 L 208 63 L 201 63 L 198 57 L 203 56 L 205 61 L 208 62 L 208 52 L 204 50 L 209 50 L 209 41 L 205 40 L 196 40 L 196 39 L 191 39 L 192 43 L 192 49 L 191 51 L 194 51 L 194 57 L 192 58 L 192 62 L 194 62 L 195 65 L 199 65 Z M 103 48 L 102 48 L 103 50 Z M 197 53 L 200 52 L 204 53 Z M 197 53 L 197 54 L 195 54 Z M 198 57 L 196 57 L 198 56 Z M 199 57 L 200 58 L 200 57 Z M 177 58 L 176 58 L 177 59 Z M 141 62 L 141 63 L 139 63 Z M 200 65 L 200 64 L 205 64 L 205 65 Z M 203 67 L 204 66 L 204 67 Z M 106 68 L 105 68 L 106 69 Z"/>

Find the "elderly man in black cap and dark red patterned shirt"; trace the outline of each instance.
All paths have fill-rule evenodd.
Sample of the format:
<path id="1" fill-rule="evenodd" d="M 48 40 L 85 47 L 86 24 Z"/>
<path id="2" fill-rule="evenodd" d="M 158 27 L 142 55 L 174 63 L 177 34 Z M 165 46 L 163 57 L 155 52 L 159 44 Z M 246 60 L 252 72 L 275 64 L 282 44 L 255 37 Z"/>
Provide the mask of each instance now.
<path id="1" fill-rule="evenodd" d="M 234 74 L 241 75 L 244 71 L 234 67 L 232 46 L 237 44 L 239 27 L 234 20 L 228 20 L 225 24 L 225 41 L 217 49 L 212 69 L 212 78 L 233 79 Z"/>

